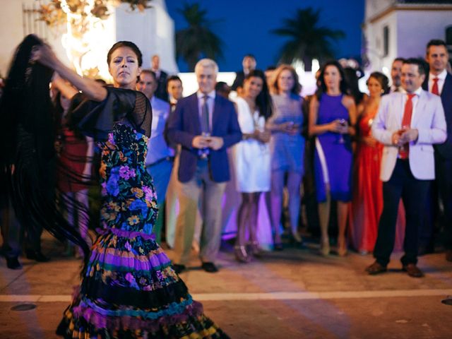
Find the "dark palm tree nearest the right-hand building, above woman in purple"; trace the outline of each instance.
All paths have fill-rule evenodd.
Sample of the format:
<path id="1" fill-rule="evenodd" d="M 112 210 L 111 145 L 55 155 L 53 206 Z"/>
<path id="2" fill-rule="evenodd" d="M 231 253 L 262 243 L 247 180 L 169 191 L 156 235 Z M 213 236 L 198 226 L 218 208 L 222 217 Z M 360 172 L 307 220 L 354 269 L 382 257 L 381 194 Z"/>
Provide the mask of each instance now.
<path id="1" fill-rule="evenodd" d="M 333 30 L 319 23 L 321 11 L 311 7 L 298 9 L 295 18 L 283 20 L 283 27 L 271 32 L 288 37 L 280 52 L 280 61 L 292 64 L 300 59 L 306 71 L 311 71 L 312 59 L 324 61 L 334 57 L 333 44 L 345 37 L 342 30 Z"/>

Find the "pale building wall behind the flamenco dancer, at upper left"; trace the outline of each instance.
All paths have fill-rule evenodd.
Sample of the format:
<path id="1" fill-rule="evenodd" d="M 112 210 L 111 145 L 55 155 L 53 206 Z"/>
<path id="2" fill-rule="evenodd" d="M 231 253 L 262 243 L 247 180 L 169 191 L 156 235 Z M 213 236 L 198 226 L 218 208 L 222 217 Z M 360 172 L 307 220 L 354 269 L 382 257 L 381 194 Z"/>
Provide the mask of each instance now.
<path id="1" fill-rule="evenodd" d="M 8 65 L 13 53 L 25 35 L 34 33 L 43 37 L 52 45 L 57 55 L 69 65 L 64 48 L 66 27 L 49 28 L 42 21 L 37 21 L 39 15 L 33 10 L 41 0 L 0 0 L 0 73 L 6 76 Z M 111 7 L 108 20 L 102 23 L 103 28 L 95 33 L 97 49 L 88 62 L 97 66 L 107 66 L 107 51 L 114 42 L 130 40 L 138 45 L 143 53 L 143 67 L 150 67 L 153 54 L 160 55 L 160 67 L 169 73 L 177 73 L 175 60 L 174 21 L 167 13 L 165 0 L 153 0 L 151 8 L 140 12 L 131 11 L 128 4 Z M 68 46 L 66 46 L 68 47 Z"/>

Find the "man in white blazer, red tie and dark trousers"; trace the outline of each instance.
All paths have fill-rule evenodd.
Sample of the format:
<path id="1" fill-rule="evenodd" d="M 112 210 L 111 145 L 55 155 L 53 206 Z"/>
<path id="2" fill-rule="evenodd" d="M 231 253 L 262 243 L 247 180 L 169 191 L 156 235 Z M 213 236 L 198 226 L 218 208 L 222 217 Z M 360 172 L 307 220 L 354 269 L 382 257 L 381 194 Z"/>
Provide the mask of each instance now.
<path id="1" fill-rule="evenodd" d="M 382 97 L 372 124 L 374 138 L 384 144 L 380 174 L 383 212 L 374 248 L 376 261 L 366 270 L 372 275 L 387 270 L 402 198 L 406 215 L 403 270 L 420 278 L 424 274 L 416 265 L 419 230 L 429 182 L 435 178 L 432 145 L 446 140 L 446 119 L 441 98 L 422 90 L 425 78 L 422 61 L 403 61 L 401 78 L 406 93 Z"/>

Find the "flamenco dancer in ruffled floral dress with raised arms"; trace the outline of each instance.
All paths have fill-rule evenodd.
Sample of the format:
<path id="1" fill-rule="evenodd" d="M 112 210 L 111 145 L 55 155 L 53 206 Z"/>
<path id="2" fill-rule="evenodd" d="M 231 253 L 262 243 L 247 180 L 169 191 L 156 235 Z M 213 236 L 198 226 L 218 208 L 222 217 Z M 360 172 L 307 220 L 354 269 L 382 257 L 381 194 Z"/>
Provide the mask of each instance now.
<path id="1" fill-rule="evenodd" d="M 24 56 L 25 63 L 20 60 Z M 68 69 L 34 35 L 20 44 L 13 61 L 11 69 L 17 64 L 23 66 L 21 72 L 16 67 L 13 75 L 26 79 L 21 82 L 25 88 L 30 84 L 47 86 L 48 93 L 49 77 L 35 78 L 35 71 L 37 74 L 44 69 L 56 71 L 81 90 L 83 100 L 69 114 L 78 129 L 97 141 L 101 152 L 103 230 L 90 255 L 85 256 L 81 286 L 64 312 L 57 334 L 64 338 L 228 338 L 204 316 L 202 305 L 191 299 L 153 237 L 157 201 L 152 178 L 145 169 L 152 114 L 145 95 L 134 90 L 141 62 L 135 44 L 114 44 L 107 54 L 114 88 L 105 88 Z M 7 86 L 15 85 L 13 78 L 8 81 L 11 83 Z M 36 99 L 41 102 L 34 102 L 35 107 L 47 101 Z M 32 105 L 26 109 L 32 109 Z M 20 208 L 17 173 L 16 166 L 11 174 L 12 186 L 16 187 L 12 194 L 15 207 Z M 35 205 L 31 213 L 43 212 L 39 203 Z M 69 238 L 87 251 L 78 230 L 66 225 L 59 215 L 52 218 L 57 222 L 45 225 L 52 234 Z"/>

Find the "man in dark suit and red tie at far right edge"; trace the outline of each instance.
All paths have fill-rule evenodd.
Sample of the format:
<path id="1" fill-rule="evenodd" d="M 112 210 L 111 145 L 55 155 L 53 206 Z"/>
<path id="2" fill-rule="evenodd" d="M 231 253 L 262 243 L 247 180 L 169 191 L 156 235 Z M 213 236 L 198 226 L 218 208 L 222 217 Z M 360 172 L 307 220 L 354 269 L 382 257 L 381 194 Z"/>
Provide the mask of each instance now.
<path id="1" fill-rule="evenodd" d="M 435 145 L 436 189 L 444 209 L 444 246 L 446 259 L 452 261 L 452 75 L 446 70 L 448 52 L 443 40 L 431 40 L 427 44 L 425 60 L 429 64 L 429 76 L 422 84 L 424 90 L 439 95 L 447 124 L 447 139 Z M 424 230 L 432 236 L 432 227 Z"/>

